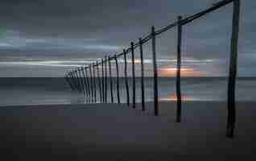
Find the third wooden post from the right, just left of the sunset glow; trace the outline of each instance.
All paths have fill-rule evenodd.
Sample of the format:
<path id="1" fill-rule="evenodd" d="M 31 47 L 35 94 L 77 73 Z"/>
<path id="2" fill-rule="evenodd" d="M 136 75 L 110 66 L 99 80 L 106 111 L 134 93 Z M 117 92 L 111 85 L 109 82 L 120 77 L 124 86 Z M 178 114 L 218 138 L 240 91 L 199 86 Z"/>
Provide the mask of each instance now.
<path id="1" fill-rule="evenodd" d="M 151 28 L 152 36 L 152 53 L 153 53 L 153 68 L 154 68 L 154 109 L 155 116 L 159 115 L 159 92 L 158 92 L 158 73 L 157 73 L 157 64 L 156 64 L 156 51 L 155 51 L 155 27 Z"/>

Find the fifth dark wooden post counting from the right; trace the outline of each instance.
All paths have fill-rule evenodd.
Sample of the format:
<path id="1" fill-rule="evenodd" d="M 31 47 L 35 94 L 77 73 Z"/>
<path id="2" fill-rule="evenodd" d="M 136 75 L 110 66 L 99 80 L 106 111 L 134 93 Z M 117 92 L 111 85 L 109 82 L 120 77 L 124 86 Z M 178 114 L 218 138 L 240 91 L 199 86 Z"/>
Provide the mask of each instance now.
<path id="1" fill-rule="evenodd" d="M 135 64 L 134 64 L 134 43 L 130 43 L 131 61 L 132 61 L 132 76 L 133 76 L 133 108 L 136 107 L 136 80 L 135 80 Z"/>

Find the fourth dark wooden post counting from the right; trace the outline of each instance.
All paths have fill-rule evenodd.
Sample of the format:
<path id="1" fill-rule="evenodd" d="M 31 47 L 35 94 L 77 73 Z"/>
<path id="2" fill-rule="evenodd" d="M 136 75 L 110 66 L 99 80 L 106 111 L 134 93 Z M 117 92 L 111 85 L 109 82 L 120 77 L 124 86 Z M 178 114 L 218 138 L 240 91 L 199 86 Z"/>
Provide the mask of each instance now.
<path id="1" fill-rule="evenodd" d="M 142 47 L 142 39 L 139 39 L 139 52 L 140 52 L 140 60 L 141 60 L 141 90 L 142 90 L 142 111 L 145 110 L 145 91 L 144 91 L 144 63 L 143 63 L 143 47 Z"/>

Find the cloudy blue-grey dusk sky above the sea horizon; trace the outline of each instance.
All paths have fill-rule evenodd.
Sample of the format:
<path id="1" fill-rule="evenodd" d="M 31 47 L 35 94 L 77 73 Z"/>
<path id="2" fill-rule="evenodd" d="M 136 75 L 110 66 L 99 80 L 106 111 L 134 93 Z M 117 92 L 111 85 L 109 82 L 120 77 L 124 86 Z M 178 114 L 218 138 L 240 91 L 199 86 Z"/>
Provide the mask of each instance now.
<path id="1" fill-rule="evenodd" d="M 215 2 L 218 0 L 2 0 L 0 76 L 64 76 L 70 69 L 122 52 L 130 42 L 149 34 L 151 26 L 159 29 L 179 15 L 187 17 Z M 256 76 L 256 1 L 241 2 L 238 76 Z M 183 27 L 183 76 L 227 76 L 232 11 L 229 4 Z M 161 76 L 175 75 L 176 35 L 173 28 L 156 39 Z M 151 41 L 143 47 L 150 75 Z M 138 50 L 135 57 L 139 58 Z M 122 66 L 123 60 L 119 63 Z M 138 75 L 139 67 L 138 61 Z"/>

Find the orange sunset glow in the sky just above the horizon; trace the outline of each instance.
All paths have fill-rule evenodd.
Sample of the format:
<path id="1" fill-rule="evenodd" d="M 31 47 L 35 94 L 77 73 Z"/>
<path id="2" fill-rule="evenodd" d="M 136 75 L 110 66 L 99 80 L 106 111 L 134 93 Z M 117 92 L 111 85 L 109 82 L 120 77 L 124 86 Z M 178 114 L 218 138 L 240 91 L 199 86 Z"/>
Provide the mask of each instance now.
<path id="1" fill-rule="evenodd" d="M 176 76 L 177 68 L 159 68 L 159 76 Z M 193 68 L 180 68 L 180 76 L 202 76 Z"/>

